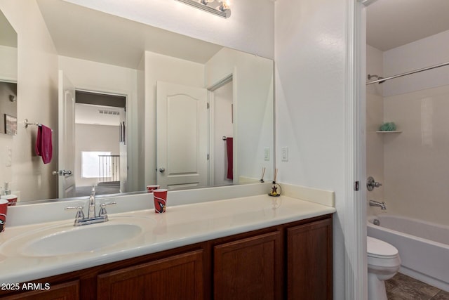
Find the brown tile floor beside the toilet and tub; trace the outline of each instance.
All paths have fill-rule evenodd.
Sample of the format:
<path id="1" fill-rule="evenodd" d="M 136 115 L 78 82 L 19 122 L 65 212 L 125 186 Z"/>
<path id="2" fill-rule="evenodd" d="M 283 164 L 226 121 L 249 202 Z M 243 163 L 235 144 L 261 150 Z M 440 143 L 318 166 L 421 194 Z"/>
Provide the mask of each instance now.
<path id="1" fill-rule="evenodd" d="M 424 282 L 397 273 L 385 282 L 389 300 L 449 300 L 445 292 Z"/>

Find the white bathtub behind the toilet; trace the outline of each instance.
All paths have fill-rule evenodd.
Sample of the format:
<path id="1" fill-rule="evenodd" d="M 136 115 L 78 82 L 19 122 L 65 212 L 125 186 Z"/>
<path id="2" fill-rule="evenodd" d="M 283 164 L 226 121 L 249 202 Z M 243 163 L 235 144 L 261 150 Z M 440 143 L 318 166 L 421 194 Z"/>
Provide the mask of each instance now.
<path id="1" fill-rule="evenodd" d="M 375 219 L 380 226 L 373 224 Z M 368 216 L 367 233 L 398 249 L 401 273 L 449 292 L 449 226 L 378 214 Z"/>

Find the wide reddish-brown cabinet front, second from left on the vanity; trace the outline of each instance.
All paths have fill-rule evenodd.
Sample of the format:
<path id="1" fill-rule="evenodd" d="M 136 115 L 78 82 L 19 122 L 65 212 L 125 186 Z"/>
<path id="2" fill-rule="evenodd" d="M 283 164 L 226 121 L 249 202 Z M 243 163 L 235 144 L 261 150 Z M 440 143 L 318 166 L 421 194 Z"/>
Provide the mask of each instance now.
<path id="1" fill-rule="evenodd" d="M 203 299 L 203 250 L 98 275 L 97 299 Z"/>

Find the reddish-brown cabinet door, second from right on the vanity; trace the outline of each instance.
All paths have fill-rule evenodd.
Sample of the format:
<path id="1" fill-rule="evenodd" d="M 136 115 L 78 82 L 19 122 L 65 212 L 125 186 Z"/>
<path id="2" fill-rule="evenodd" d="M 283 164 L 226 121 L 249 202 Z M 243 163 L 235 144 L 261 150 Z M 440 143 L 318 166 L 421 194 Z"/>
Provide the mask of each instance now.
<path id="1" fill-rule="evenodd" d="M 214 247 L 214 299 L 281 299 L 278 231 Z"/>

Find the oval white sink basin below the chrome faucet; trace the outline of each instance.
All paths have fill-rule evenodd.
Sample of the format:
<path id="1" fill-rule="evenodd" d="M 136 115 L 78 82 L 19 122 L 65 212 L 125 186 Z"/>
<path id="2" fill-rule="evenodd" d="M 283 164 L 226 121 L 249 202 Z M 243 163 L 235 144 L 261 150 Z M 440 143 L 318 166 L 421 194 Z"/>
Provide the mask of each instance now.
<path id="1" fill-rule="evenodd" d="M 138 237 L 149 223 L 154 221 L 130 217 L 79 227 L 73 223 L 48 226 L 13 237 L 1 245 L 0 252 L 34 257 L 95 252 Z"/>

